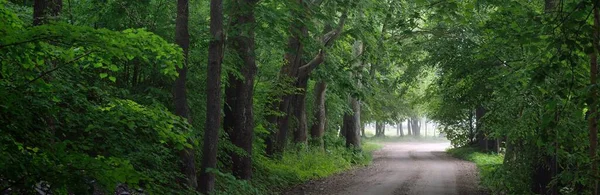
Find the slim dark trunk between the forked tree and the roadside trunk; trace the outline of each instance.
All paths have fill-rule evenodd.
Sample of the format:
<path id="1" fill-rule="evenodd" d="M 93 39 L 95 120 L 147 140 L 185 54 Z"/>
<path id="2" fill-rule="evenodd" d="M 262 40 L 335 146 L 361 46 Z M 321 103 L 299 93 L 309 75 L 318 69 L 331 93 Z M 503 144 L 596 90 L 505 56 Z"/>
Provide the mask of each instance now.
<path id="1" fill-rule="evenodd" d="M 319 81 L 315 85 L 315 123 L 310 129 L 310 136 L 317 145 L 323 147 L 323 135 L 325 134 L 325 119 L 327 113 L 325 112 L 325 92 L 327 91 L 327 83 L 325 81 Z"/>

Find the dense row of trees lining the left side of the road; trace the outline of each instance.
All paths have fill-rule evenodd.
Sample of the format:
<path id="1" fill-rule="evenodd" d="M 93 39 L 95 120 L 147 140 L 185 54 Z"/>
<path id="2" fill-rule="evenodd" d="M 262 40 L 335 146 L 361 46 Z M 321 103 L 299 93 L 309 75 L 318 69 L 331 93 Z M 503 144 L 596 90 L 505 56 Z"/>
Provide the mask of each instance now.
<path id="1" fill-rule="evenodd" d="M 210 193 L 292 144 L 360 153 L 361 124 L 423 115 L 434 6 L 0 0 L 0 191 Z"/>

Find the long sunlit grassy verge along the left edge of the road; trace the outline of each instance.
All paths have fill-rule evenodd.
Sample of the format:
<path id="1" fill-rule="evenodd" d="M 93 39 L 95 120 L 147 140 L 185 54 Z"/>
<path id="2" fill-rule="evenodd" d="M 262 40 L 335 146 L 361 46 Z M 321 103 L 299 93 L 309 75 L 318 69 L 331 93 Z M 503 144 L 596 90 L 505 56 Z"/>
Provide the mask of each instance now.
<path id="1" fill-rule="evenodd" d="M 218 194 L 278 194 L 291 186 L 327 177 L 372 162 L 372 152 L 383 147 L 363 142 L 362 152 L 343 146 L 321 150 L 308 147 L 285 152 L 280 159 L 255 156 L 254 175 L 249 182 L 217 173 Z"/>

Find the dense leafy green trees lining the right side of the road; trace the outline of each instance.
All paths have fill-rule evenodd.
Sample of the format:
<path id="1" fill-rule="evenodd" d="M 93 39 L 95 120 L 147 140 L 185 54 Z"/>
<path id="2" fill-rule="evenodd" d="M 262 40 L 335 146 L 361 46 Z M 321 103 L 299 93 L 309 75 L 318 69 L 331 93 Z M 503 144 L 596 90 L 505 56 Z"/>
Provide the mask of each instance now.
<path id="1" fill-rule="evenodd" d="M 498 193 L 597 194 L 598 1 L 443 4 L 428 116 L 454 145 L 505 153 Z"/>

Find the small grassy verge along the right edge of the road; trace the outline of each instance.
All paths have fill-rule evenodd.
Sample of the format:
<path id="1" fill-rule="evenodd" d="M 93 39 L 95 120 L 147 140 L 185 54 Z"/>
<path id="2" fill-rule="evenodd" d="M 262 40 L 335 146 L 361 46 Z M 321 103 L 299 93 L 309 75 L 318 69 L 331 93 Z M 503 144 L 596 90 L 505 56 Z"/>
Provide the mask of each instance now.
<path id="1" fill-rule="evenodd" d="M 504 156 L 499 154 L 488 154 L 483 153 L 477 148 L 473 147 L 461 147 L 452 148 L 448 150 L 448 154 L 474 162 L 479 168 L 479 177 L 481 179 L 481 186 L 492 192 L 496 191 L 496 185 L 498 177 L 494 175 L 500 170 Z"/>

